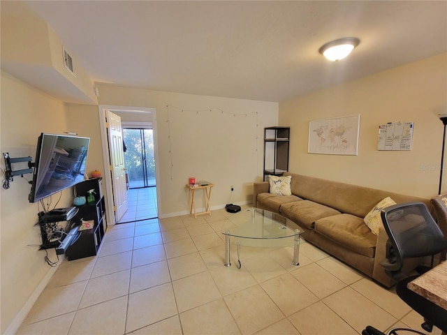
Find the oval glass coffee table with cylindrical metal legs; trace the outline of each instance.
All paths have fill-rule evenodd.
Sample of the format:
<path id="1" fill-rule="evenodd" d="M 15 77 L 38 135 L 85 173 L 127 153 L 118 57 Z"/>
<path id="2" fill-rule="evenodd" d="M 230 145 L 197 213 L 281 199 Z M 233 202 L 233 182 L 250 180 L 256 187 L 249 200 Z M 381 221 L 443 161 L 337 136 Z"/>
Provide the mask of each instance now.
<path id="1" fill-rule="evenodd" d="M 293 265 L 299 265 L 300 236 L 303 231 L 288 218 L 265 209 L 249 208 L 228 218 L 222 234 L 225 235 L 225 266 L 230 267 L 231 237 L 237 246 L 273 248 L 294 245 Z M 238 248 L 238 256 L 240 249 Z M 239 257 L 238 257 L 239 258 Z M 238 260 L 240 267 L 240 260 Z"/>

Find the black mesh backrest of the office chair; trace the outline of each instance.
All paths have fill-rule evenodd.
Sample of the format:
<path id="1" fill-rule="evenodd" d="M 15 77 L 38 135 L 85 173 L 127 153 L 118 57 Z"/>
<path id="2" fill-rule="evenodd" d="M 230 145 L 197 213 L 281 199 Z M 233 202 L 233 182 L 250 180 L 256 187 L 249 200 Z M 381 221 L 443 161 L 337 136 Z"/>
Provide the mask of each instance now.
<path id="1" fill-rule="evenodd" d="M 400 271 L 406 258 L 436 255 L 447 248 L 447 241 L 423 202 L 397 204 L 381 211 L 388 233 L 388 271 Z"/>

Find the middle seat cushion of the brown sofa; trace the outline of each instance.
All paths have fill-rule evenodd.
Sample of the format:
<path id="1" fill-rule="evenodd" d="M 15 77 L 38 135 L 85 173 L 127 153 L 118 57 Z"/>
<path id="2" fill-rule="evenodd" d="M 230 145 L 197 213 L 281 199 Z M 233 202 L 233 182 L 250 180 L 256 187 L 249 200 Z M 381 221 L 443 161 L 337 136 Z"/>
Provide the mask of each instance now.
<path id="1" fill-rule="evenodd" d="M 324 204 L 317 204 L 316 202 L 309 200 L 282 204 L 280 211 L 281 214 L 284 214 L 287 218 L 308 229 L 313 229 L 314 222 L 319 218 L 340 214 L 337 209 L 327 207 Z"/>

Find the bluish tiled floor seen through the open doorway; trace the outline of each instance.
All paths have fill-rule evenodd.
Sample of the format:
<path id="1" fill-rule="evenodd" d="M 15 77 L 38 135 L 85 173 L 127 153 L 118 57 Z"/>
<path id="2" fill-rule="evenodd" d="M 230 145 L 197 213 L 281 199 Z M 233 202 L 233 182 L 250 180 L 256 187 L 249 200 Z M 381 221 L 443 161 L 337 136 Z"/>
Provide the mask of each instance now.
<path id="1" fill-rule="evenodd" d="M 129 209 L 119 223 L 139 221 L 158 217 L 156 205 L 156 187 L 131 188 L 127 195 Z"/>

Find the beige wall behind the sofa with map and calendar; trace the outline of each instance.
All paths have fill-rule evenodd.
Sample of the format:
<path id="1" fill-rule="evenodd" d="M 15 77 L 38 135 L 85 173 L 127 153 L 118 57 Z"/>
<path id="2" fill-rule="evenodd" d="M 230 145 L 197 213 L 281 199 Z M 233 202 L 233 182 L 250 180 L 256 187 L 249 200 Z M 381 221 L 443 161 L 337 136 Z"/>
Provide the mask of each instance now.
<path id="1" fill-rule="evenodd" d="M 293 172 L 430 198 L 439 187 L 438 112 L 447 112 L 447 54 L 280 103 L 279 125 L 291 126 Z M 309 121 L 353 114 L 360 114 L 358 156 L 307 154 Z M 377 151 L 379 124 L 394 121 L 414 122 L 411 151 Z"/>

